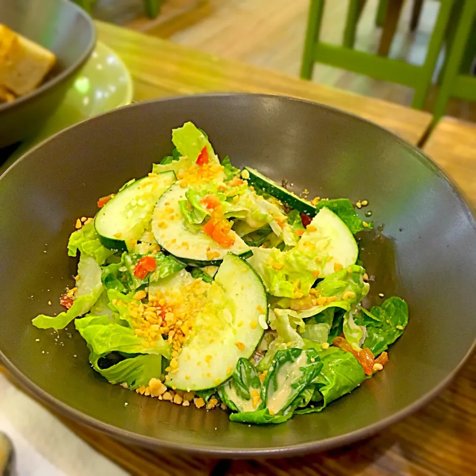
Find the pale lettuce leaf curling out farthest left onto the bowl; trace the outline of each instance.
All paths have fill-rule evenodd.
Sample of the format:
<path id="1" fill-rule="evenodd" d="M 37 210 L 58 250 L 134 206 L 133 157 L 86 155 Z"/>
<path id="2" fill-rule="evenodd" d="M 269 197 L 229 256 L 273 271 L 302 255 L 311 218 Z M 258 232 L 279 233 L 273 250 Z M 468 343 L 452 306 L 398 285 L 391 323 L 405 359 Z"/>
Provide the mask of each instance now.
<path id="1" fill-rule="evenodd" d="M 33 325 L 39 329 L 64 329 L 73 319 L 86 314 L 98 300 L 103 291 L 101 268 L 94 258 L 81 254 L 78 264 L 77 297 L 73 305 L 57 316 L 40 314 Z"/>

